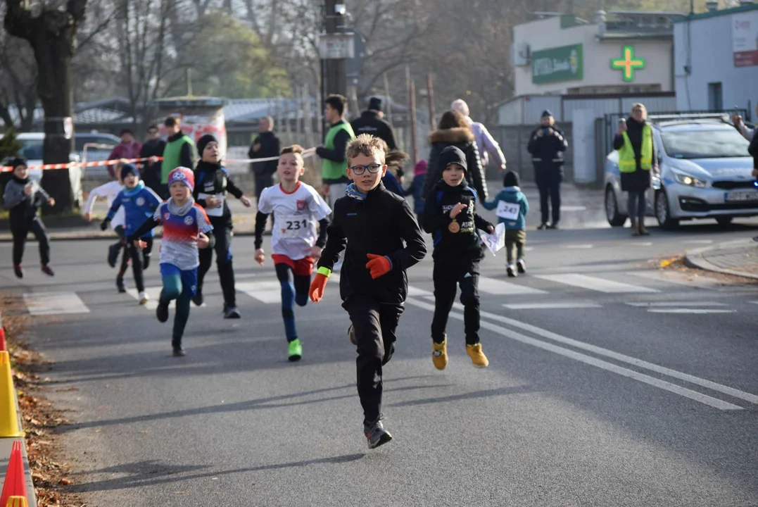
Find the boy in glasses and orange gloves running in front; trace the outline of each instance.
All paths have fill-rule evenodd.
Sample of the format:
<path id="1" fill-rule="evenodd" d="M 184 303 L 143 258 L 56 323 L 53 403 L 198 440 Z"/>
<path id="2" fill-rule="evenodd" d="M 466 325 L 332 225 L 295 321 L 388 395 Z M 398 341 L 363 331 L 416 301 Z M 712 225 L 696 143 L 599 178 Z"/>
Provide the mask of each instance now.
<path id="1" fill-rule="evenodd" d="M 334 203 L 334 221 L 310 289 L 311 300 L 320 301 L 344 249 L 340 296 L 358 344 L 358 396 L 369 448 L 392 440 L 381 421 L 382 366 L 395 350 L 395 330 L 408 293 L 406 269 L 426 255 L 408 203 L 381 183 L 387 171 L 384 146 L 368 134 L 348 144 L 347 176 L 352 183 Z"/>

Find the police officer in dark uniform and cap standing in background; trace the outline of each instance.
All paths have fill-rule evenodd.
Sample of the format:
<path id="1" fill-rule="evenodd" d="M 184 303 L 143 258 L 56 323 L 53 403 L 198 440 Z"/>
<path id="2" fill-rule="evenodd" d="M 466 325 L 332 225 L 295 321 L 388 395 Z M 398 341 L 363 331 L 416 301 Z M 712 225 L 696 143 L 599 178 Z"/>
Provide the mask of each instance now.
<path id="1" fill-rule="evenodd" d="M 543 111 L 540 127 L 529 137 L 527 151 L 534 164 L 534 181 L 540 190 L 542 221 L 537 229 L 557 229 L 561 219 L 561 182 L 563 181 L 563 152 L 568 148 L 565 134 L 556 127 L 550 111 Z M 553 222 L 547 223 L 553 208 Z"/>

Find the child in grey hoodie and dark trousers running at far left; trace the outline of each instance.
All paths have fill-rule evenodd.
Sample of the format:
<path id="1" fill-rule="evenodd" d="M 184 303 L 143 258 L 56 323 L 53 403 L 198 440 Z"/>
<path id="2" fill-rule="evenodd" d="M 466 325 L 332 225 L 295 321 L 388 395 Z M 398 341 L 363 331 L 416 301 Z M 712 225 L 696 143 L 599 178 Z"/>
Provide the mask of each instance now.
<path id="1" fill-rule="evenodd" d="M 39 242 L 39 261 L 42 273 L 53 276 L 50 262 L 50 242 L 45 224 L 37 216 L 37 209 L 42 203 L 54 206 L 52 199 L 34 180 L 29 179 L 29 168 L 24 158 L 16 158 L 13 163 L 13 175 L 5 185 L 2 202 L 10 210 L 9 221 L 13 234 L 13 271 L 18 278 L 23 278 L 21 258 L 23 247 L 27 243 L 27 235 L 34 233 Z"/>

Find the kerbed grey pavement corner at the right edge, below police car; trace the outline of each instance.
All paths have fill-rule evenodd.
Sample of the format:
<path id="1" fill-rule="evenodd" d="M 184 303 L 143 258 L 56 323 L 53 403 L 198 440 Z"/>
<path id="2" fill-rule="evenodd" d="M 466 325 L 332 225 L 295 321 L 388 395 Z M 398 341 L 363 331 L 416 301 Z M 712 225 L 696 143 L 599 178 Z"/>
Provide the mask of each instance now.
<path id="1" fill-rule="evenodd" d="M 692 268 L 758 280 L 758 243 L 753 239 L 688 250 L 684 261 Z"/>

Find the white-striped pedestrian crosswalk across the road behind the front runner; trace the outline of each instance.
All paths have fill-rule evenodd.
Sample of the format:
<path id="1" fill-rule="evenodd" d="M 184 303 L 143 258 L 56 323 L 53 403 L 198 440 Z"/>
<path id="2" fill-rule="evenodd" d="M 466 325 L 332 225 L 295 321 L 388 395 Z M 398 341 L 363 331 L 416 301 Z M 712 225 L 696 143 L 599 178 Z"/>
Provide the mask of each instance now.
<path id="1" fill-rule="evenodd" d="M 256 274 L 243 276 L 236 283 L 237 293 L 246 295 L 257 304 L 279 305 L 281 302 L 280 283 L 273 274 Z M 337 296 L 340 283 L 339 274 L 330 277 L 329 287 L 333 296 Z M 110 289 L 108 289 L 110 290 Z M 695 277 L 676 271 L 638 270 L 638 271 L 604 271 L 597 274 L 556 273 L 526 274 L 518 278 L 505 276 L 481 276 L 478 290 L 484 304 L 495 304 L 500 308 L 518 311 L 574 310 L 591 311 L 604 308 L 609 304 L 622 304 L 642 311 L 659 314 L 718 314 L 731 313 L 728 307 L 717 299 L 728 297 L 725 289 L 717 280 L 707 277 Z M 727 291 L 725 293 L 725 290 Z M 742 289 L 750 291 L 749 288 Z M 141 308 L 155 311 L 160 286 L 147 287 L 149 302 Z M 712 293 L 713 302 L 708 301 Z M 139 294 L 136 289 L 128 289 L 127 294 L 136 305 Z M 211 297 L 214 293 L 211 290 Z M 666 299 L 667 296 L 672 299 Z M 696 295 L 692 298 L 688 295 Z M 208 293 L 206 293 L 208 296 Z M 220 296 L 220 295 L 217 295 Z M 409 298 L 434 298 L 434 283 L 431 279 L 413 280 L 409 284 Z M 686 297 L 685 297 L 686 296 Z M 718 297 L 716 297 L 718 296 Z M 736 296 L 736 293 L 735 293 Z M 747 296 L 747 297 L 745 297 Z M 758 304 L 751 301 L 756 296 L 742 293 L 735 297 L 735 304 Z M 102 293 L 26 293 L 23 295 L 31 315 L 65 315 L 87 313 L 98 310 L 102 305 L 121 305 L 113 299 L 104 301 Z M 687 301 L 691 299 L 691 301 Z M 696 300 L 697 299 L 697 300 Z M 240 305 L 245 305 L 240 301 Z M 121 301 L 121 300 L 119 300 Z M 138 305 L 138 308 L 139 305 Z"/>

